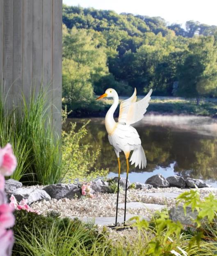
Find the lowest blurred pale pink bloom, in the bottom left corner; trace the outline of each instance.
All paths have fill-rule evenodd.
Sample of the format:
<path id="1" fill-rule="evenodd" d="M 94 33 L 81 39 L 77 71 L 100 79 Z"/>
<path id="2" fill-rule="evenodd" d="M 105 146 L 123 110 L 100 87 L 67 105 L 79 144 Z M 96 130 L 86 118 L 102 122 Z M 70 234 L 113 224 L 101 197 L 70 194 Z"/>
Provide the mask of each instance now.
<path id="1" fill-rule="evenodd" d="M 13 244 L 13 231 L 0 228 L 0 256 L 10 256 Z"/>

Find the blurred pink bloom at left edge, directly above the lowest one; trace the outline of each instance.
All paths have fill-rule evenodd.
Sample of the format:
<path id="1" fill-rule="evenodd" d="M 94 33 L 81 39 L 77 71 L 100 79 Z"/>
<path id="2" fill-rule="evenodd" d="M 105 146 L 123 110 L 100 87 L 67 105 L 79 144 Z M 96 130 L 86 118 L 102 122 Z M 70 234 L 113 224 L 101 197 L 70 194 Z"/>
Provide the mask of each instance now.
<path id="1" fill-rule="evenodd" d="M 13 209 L 7 203 L 0 205 L 0 229 L 8 229 L 14 226 L 15 218 L 12 214 Z"/>

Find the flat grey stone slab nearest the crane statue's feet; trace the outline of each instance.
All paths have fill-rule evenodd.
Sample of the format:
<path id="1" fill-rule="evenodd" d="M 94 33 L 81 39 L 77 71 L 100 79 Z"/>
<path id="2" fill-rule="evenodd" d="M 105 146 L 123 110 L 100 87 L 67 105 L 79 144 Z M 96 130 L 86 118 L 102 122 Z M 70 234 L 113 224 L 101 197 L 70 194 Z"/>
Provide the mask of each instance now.
<path id="1" fill-rule="evenodd" d="M 133 214 L 127 214 L 126 215 L 126 221 L 128 219 L 138 216 L 138 215 L 133 215 Z M 72 219 L 75 217 L 71 217 Z M 83 222 L 95 222 L 95 224 L 100 225 L 100 226 L 106 226 L 106 225 L 112 225 L 115 223 L 115 217 L 78 217 L 80 220 Z M 142 216 L 143 219 L 148 220 L 148 217 Z M 119 223 L 123 223 L 123 216 L 118 216 L 117 221 Z"/>

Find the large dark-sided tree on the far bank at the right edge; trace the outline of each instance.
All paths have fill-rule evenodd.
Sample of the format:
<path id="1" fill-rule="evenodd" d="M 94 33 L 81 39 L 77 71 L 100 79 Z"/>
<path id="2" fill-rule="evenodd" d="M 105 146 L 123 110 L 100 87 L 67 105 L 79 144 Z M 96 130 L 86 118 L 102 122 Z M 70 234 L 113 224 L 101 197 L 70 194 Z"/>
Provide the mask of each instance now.
<path id="1" fill-rule="evenodd" d="M 185 61 L 178 69 L 178 95 L 198 99 L 200 96 L 216 95 L 217 46 L 214 37 L 193 39 Z"/>

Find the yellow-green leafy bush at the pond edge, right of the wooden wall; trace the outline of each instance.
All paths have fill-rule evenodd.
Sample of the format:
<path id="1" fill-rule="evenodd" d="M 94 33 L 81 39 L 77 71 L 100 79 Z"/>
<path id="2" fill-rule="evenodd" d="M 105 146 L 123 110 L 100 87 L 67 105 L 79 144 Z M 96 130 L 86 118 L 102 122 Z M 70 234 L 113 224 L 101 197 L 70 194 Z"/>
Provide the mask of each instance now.
<path id="1" fill-rule="evenodd" d="M 67 111 L 63 111 L 63 123 L 66 121 Z M 65 182 L 90 181 L 97 177 L 105 177 L 108 169 L 96 169 L 95 164 L 101 152 L 100 147 L 93 148 L 91 144 L 82 144 L 87 135 L 85 123 L 77 131 L 76 123 L 69 123 L 69 131 L 62 131 L 62 171 Z"/>

